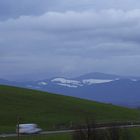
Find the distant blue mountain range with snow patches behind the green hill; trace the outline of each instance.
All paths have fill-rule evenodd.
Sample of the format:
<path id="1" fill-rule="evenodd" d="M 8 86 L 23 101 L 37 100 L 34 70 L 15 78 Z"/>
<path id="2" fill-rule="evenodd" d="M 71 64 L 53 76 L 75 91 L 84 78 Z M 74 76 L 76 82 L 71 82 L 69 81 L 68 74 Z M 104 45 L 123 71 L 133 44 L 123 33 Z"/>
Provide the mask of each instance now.
<path id="1" fill-rule="evenodd" d="M 140 77 L 96 72 L 75 78 L 54 77 L 27 82 L 0 79 L 0 84 L 37 89 L 127 107 L 136 108 L 140 106 Z"/>

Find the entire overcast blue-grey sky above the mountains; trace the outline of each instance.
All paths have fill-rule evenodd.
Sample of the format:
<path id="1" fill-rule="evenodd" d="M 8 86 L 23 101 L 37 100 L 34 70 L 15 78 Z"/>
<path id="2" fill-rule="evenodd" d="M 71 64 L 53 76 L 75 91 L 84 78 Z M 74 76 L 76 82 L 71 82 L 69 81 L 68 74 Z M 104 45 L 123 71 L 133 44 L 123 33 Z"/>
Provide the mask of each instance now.
<path id="1" fill-rule="evenodd" d="M 0 0 L 0 78 L 140 76 L 139 0 Z"/>

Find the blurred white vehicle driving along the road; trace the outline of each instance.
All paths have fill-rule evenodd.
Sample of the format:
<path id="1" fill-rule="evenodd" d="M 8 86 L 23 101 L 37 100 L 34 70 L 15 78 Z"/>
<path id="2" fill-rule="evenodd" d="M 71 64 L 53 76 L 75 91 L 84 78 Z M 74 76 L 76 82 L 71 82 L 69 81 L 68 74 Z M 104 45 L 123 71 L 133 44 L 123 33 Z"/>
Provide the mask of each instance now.
<path id="1" fill-rule="evenodd" d="M 39 128 L 37 124 L 19 124 L 19 126 L 16 126 L 16 132 L 19 134 L 36 134 L 41 131 L 42 129 Z"/>

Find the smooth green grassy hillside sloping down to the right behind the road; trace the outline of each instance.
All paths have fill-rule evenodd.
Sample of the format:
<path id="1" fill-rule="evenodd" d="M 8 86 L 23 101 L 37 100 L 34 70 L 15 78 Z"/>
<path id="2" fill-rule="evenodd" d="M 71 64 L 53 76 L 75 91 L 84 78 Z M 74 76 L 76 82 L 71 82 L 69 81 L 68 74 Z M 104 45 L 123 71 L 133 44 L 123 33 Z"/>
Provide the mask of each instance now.
<path id="1" fill-rule="evenodd" d="M 84 122 L 140 120 L 138 110 L 49 94 L 46 92 L 0 86 L 0 132 L 15 131 L 20 123 L 37 123 L 44 129 Z"/>

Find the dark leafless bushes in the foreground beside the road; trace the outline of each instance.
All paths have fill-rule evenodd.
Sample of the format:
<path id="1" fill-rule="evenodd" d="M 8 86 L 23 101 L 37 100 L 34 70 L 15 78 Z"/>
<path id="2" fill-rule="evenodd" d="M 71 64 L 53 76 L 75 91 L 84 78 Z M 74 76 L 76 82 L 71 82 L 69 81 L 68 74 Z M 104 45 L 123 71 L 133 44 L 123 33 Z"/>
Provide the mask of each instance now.
<path id="1" fill-rule="evenodd" d="M 87 122 L 86 125 L 78 126 L 73 133 L 73 140 L 131 140 L 127 129 L 112 126 L 100 129 L 96 123 Z"/>

